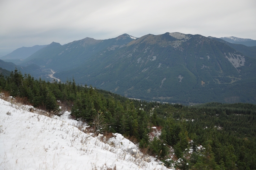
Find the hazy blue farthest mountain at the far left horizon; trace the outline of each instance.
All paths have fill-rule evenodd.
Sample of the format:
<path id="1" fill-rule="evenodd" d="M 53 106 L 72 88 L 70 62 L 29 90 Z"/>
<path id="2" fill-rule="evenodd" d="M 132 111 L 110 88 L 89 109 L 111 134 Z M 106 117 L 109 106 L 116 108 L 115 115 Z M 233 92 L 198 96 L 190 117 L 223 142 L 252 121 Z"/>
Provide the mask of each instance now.
<path id="1" fill-rule="evenodd" d="M 11 52 L 8 55 L 5 55 L 1 57 L 1 60 L 7 59 L 7 60 L 13 60 L 13 59 L 26 59 L 33 53 L 37 52 L 39 49 L 44 48 L 47 45 L 43 46 L 32 46 L 32 47 L 21 47 L 18 49 L 15 49 L 13 52 Z"/>

